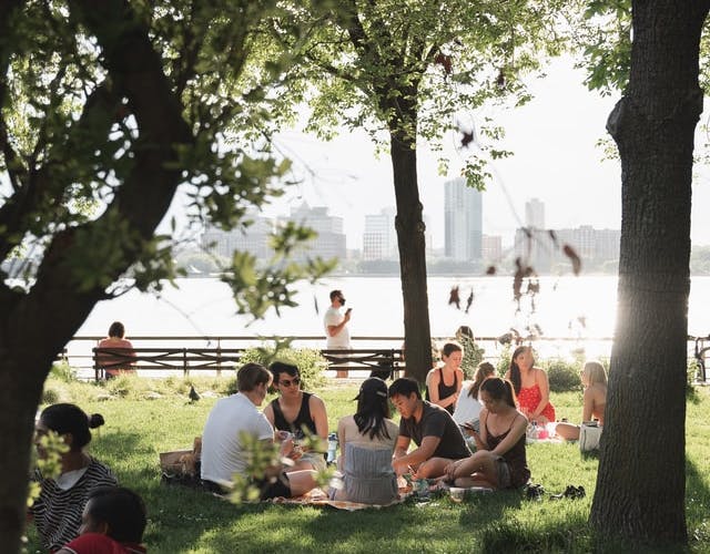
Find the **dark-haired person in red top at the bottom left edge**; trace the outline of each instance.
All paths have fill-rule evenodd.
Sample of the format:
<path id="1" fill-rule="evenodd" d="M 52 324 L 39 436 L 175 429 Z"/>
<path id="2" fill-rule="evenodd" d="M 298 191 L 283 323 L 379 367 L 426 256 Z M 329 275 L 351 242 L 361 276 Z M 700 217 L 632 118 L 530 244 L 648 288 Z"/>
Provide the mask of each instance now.
<path id="1" fill-rule="evenodd" d="M 99 486 L 91 491 L 79 536 L 57 554 L 144 554 L 145 504 L 130 489 Z"/>

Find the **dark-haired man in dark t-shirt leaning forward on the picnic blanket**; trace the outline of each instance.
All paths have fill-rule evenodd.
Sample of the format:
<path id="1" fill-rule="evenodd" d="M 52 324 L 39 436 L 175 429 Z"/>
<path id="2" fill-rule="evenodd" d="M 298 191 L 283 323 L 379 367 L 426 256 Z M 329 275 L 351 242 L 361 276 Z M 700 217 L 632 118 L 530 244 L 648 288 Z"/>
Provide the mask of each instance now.
<path id="1" fill-rule="evenodd" d="M 413 470 L 418 479 L 437 478 L 452 461 L 471 455 L 452 416 L 444 408 L 422 400 L 416 381 L 397 379 L 389 387 L 389 398 L 402 416 L 392 461 L 398 475 Z M 412 441 L 417 448 L 407 453 Z"/>

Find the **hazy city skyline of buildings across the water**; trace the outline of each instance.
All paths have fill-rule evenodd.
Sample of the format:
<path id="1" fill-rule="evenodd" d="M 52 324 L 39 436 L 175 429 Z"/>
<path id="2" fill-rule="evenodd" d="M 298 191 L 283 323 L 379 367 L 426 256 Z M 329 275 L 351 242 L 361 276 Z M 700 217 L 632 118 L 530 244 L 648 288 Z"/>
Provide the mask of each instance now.
<path id="1" fill-rule="evenodd" d="M 515 244 L 503 247 L 498 235 L 483 235 L 480 220 L 484 213 L 480 193 L 465 186 L 463 179 L 446 183 L 446 199 L 443 219 L 447 228 L 444 248 L 434 248 L 430 236 L 426 237 L 427 258 L 464 264 L 497 264 L 509 257 L 520 257 L 536 270 L 548 273 L 554 267 L 567 264 L 562 246 L 570 245 L 589 267 L 608 270 L 616 266 L 619 257 L 619 229 L 598 229 L 580 224 L 574 228 L 550 229 L 545 227 L 545 203 L 530 198 L 525 204 L 526 226 L 515 234 Z M 211 227 L 202 236 L 204 248 L 230 258 L 234 250 L 248 252 L 260 259 L 268 259 L 274 253 L 271 235 L 286 222 L 295 222 L 313 228 L 316 238 L 305 248 L 294 253 L 294 259 L 320 256 L 338 260 L 398 263 L 395 233 L 395 208 L 387 206 L 377 214 L 365 214 L 365 230 L 359 237 L 359 247 L 346 248 L 344 227 L 346 219 L 328 213 L 324 206 L 310 206 L 303 202 L 290 213 L 265 217 L 251 215 L 253 224 L 246 229 L 230 232 Z M 481 266 L 483 267 L 483 266 Z M 382 266 L 379 266 L 382 269 Z M 367 271 L 367 269 L 365 269 Z"/>

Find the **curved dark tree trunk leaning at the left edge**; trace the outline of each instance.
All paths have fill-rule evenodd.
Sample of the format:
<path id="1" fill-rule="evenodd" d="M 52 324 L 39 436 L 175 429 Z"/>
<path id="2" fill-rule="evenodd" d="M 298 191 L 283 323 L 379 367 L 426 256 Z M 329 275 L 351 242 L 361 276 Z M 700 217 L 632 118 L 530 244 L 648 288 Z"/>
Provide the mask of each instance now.
<path id="1" fill-rule="evenodd" d="M 58 233 L 48 247 L 30 293 L 0 284 L 0 544 L 18 552 L 24 529 L 27 485 L 34 414 L 42 386 L 57 352 L 81 327 L 93 306 L 105 298 L 102 281 L 85 286 L 78 263 L 89 255 L 98 267 L 111 267 L 103 277 L 113 281 L 153 237 L 181 182 L 175 145 L 192 143 L 182 106 L 171 91 L 162 61 L 148 30 L 136 28 L 120 0 L 80 4 L 84 23 L 94 32 L 115 88 L 129 99 L 141 133 L 133 148 L 135 168 L 122 183 L 114 202 L 101 217 Z M 72 4 L 72 8 L 75 6 Z M 122 33 L 106 21 L 122 14 Z M 121 227 L 116 227 L 116 222 Z M 119 229 L 120 230 L 116 230 Z M 111 260 L 115 249 L 91 250 L 97 237 L 119 234 L 122 261 Z M 141 240 L 139 240 L 139 238 Z M 1 240 L 1 237 L 0 237 Z M 101 260 L 105 259 L 105 264 Z"/>

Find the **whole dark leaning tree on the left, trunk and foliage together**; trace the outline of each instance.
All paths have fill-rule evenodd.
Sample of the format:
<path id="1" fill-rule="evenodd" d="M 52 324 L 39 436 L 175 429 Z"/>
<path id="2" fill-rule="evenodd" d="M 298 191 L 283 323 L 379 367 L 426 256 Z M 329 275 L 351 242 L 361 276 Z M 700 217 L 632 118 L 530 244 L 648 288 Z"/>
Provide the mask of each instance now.
<path id="1" fill-rule="evenodd" d="M 271 152 L 291 52 L 270 39 L 275 0 L 10 0 L 0 4 L 0 541 L 19 544 L 30 437 L 55 353 L 130 276 L 141 290 L 178 271 L 178 226 L 156 234 L 180 192 L 187 230 L 245 227 L 281 195 Z M 265 317 L 296 279 L 311 233 L 287 227 L 265 271 L 236 255 L 237 307 Z M 230 278 L 231 276 L 231 278 Z M 124 280 L 121 280 L 124 283 Z"/>

